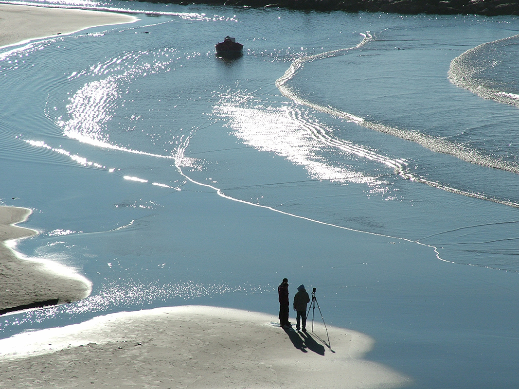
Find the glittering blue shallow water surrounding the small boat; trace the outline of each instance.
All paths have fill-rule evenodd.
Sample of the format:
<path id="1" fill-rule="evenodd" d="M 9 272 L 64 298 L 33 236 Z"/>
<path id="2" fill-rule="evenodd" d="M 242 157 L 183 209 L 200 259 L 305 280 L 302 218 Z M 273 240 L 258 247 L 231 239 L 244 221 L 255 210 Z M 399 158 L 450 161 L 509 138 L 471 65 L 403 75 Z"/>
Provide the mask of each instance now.
<path id="1" fill-rule="evenodd" d="M 517 385 L 517 18 L 74 6 L 146 14 L 0 51 L 0 199 L 93 292 L 3 336 L 286 275 L 414 387 Z"/>

